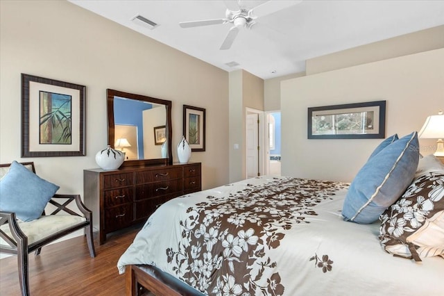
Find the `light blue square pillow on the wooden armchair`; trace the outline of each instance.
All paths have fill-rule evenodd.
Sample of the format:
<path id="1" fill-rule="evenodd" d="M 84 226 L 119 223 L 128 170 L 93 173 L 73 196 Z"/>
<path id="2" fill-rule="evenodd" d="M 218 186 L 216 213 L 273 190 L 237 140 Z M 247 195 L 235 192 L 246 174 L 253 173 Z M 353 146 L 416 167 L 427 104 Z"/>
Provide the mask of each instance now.
<path id="1" fill-rule="evenodd" d="M 58 188 L 13 161 L 0 180 L 0 209 L 15 212 L 22 221 L 38 219 Z"/>

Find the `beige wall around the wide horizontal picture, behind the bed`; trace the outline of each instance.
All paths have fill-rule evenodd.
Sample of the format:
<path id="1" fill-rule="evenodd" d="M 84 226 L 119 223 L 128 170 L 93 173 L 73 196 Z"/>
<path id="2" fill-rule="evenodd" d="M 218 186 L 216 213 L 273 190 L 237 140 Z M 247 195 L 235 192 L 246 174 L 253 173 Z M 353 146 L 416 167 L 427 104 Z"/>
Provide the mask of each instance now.
<path id="1" fill-rule="evenodd" d="M 382 60 L 281 83 L 282 174 L 351 181 L 375 140 L 307 140 L 307 108 L 386 100 L 386 135 L 418 131 L 444 109 L 444 49 Z M 320 87 L 321 86 L 321 87 Z M 420 140 L 431 154 L 434 140 Z"/>

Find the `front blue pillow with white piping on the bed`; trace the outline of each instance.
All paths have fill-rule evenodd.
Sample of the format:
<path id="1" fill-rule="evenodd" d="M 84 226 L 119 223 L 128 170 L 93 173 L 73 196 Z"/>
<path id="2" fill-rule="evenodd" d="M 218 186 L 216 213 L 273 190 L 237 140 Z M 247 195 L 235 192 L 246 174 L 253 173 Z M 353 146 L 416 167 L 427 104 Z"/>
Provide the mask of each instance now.
<path id="1" fill-rule="evenodd" d="M 343 204 L 345 221 L 378 220 L 410 185 L 419 161 L 418 133 L 396 140 L 370 158 L 350 184 Z"/>

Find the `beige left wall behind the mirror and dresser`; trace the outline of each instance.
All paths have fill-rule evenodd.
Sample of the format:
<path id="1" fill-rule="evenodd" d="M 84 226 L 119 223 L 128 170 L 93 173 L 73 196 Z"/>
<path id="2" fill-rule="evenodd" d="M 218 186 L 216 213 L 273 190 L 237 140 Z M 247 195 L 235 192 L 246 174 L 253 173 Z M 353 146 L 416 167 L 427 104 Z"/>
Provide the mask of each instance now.
<path id="1" fill-rule="evenodd" d="M 106 89 L 173 101 L 173 157 L 182 104 L 207 110 L 203 188 L 228 183 L 228 72 L 67 1 L 0 1 L 0 163 L 34 161 L 59 192 L 83 193 L 83 170 L 107 144 Z M 86 153 L 21 158 L 20 74 L 86 85 Z"/>

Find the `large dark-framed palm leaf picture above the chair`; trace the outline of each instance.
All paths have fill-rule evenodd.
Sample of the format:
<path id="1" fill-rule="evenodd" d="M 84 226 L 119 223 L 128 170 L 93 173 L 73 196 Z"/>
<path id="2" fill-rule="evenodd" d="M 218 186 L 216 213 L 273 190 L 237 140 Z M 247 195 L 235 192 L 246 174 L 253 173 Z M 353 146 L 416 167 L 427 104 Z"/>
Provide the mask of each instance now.
<path id="1" fill-rule="evenodd" d="M 22 157 L 85 156 L 86 86 L 22 74 Z"/>

